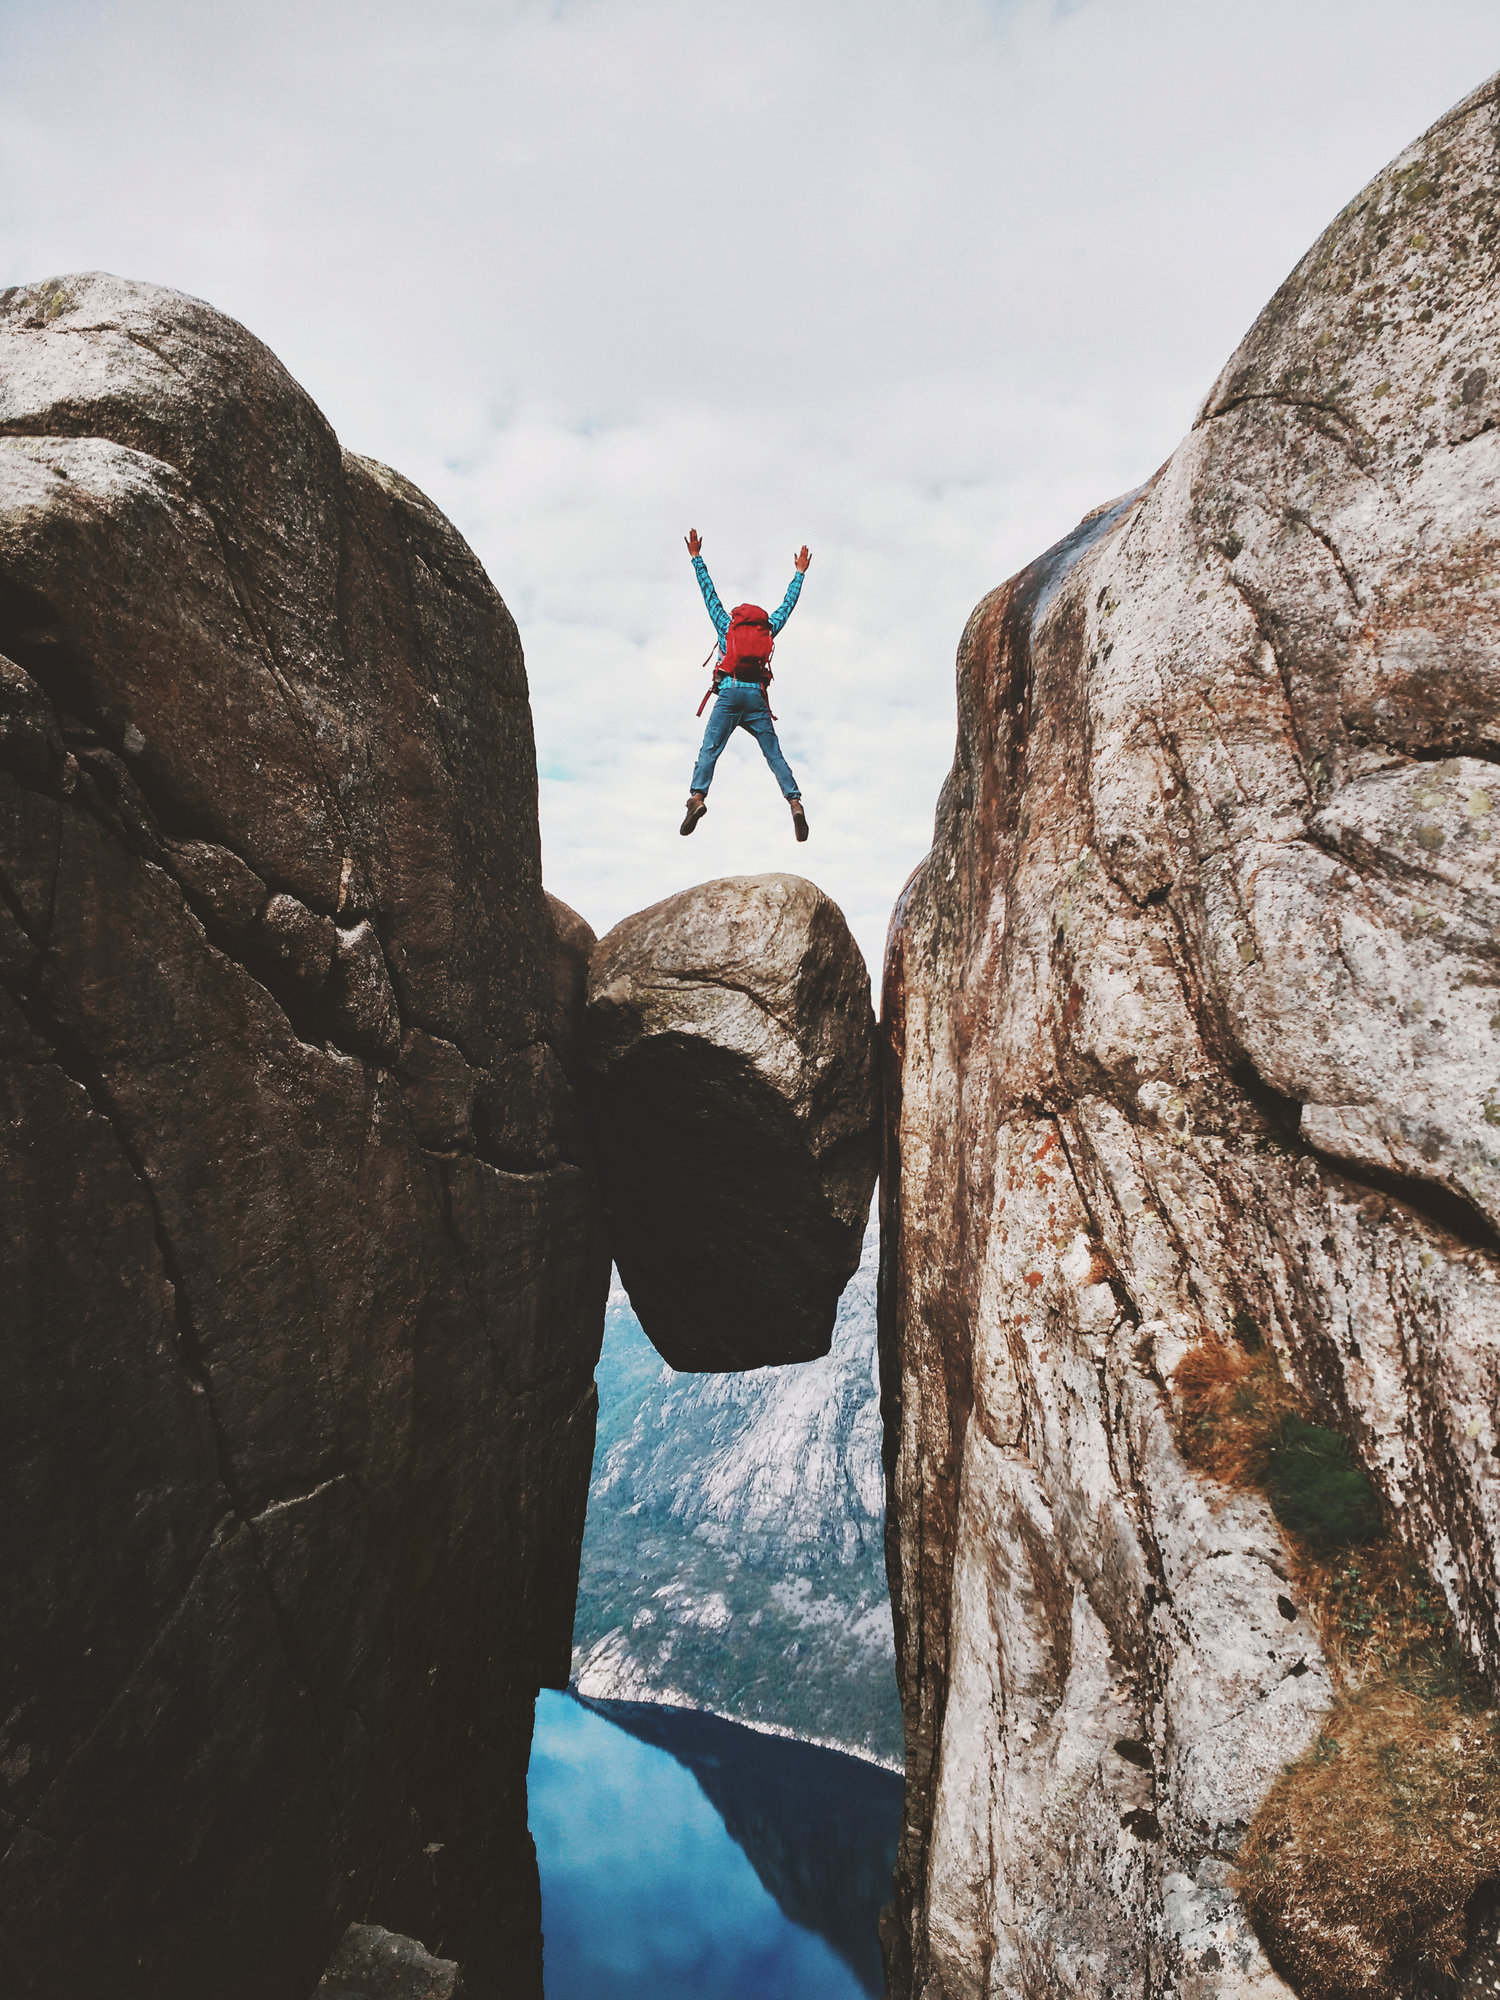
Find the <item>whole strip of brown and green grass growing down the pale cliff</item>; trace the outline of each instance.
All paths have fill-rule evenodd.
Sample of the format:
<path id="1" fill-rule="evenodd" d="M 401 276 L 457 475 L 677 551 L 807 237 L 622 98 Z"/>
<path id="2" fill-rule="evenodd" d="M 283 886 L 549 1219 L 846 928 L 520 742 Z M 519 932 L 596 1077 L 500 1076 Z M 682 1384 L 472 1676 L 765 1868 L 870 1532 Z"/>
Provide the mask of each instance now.
<path id="1" fill-rule="evenodd" d="M 1442 1592 L 1276 1356 L 1204 1342 L 1174 1388 L 1188 1464 L 1270 1500 L 1340 1688 L 1246 1834 L 1246 1910 L 1304 2000 L 1450 1990 L 1466 1906 L 1500 1876 L 1500 1718 Z"/>

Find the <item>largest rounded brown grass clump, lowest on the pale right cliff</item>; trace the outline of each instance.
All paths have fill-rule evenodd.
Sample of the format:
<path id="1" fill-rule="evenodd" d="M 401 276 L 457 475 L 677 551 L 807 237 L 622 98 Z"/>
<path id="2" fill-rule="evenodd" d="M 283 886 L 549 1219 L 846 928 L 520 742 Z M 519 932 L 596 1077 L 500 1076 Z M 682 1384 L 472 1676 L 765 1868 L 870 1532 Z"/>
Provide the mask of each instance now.
<path id="1" fill-rule="evenodd" d="M 1370 1682 L 1266 1794 L 1240 1896 L 1276 1966 L 1318 2000 L 1440 1992 L 1464 1908 L 1500 1872 L 1500 1736 L 1462 1694 Z"/>

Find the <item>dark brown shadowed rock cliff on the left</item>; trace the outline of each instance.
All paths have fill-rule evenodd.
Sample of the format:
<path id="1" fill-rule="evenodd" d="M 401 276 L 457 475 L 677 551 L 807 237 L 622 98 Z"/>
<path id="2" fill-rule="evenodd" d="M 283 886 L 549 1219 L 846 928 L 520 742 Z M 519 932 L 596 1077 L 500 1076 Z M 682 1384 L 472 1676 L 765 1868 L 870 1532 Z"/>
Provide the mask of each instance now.
<path id="1" fill-rule="evenodd" d="M 608 1258 L 516 630 L 86 276 L 0 294 L 0 1984 L 300 1994 L 376 1908 L 526 1990 Z"/>

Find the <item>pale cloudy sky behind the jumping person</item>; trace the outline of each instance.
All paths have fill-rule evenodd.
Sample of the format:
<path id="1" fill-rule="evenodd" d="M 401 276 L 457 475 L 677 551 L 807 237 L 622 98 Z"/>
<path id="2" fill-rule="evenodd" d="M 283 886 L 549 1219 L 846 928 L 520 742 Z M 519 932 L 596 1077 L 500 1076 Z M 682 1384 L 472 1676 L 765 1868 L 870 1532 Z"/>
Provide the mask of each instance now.
<path id="1" fill-rule="evenodd" d="M 1336 210 L 1500 66 L 1494 0 L 0 0 L 0 282 L 270 342 L 526 642 L 548 884 L 604 930 L 796 868 L 876 958 L 972 604 L 1148 476 Z M 796 848 L 712 630 L 780 600 Z"/>

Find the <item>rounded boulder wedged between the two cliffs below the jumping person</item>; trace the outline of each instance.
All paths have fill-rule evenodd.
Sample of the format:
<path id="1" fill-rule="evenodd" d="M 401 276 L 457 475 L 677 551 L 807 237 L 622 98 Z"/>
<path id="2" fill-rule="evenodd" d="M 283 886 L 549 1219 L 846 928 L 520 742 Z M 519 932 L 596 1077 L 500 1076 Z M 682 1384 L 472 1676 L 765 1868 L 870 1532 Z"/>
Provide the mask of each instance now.
<path id="1" fill-rule="evenodd" d="M 682 1370 L 828 1352 L 876 1178 L 870 978 L 800 876 L 726 876 L 594 946 L 584 1056 L 610 1248 Z"/>

